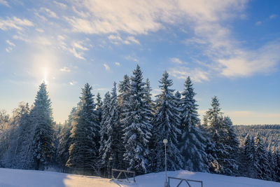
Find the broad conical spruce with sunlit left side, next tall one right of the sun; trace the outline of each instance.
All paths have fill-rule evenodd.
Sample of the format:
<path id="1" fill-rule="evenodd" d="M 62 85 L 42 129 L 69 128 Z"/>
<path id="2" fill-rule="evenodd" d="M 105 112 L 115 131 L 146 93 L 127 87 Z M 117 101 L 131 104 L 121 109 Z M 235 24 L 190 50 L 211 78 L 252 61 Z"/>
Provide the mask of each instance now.
<path id="1" fill-rule="evenodd" d="M 66 166 L 73 172 L 83 174 L 99 174 L 97 163 L 100 127 L 91 90 L 88 83 L 82 88 L 80 102 L 72 118 L 72 144 L 69 148 L 69 160 L 66 162 Z"/>

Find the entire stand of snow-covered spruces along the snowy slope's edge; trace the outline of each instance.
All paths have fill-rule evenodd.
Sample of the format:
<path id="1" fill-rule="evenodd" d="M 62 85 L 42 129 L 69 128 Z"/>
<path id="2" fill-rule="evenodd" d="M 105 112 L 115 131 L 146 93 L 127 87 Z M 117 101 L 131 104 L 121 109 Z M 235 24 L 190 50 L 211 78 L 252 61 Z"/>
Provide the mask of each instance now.
<path id="1" fill-rule="evenodd" d="M 99 176 L 108 176 L 111 168 L 161 172 L 167 139 L 168 170 L 280 180 L 279 147 L 267 149 L 258 134 L 240 143 L 217 97 L 201 123 L 190 77 L 181 93 L 172 89 L 167 71 L 159 83 L 153 100 L 138 65 L 103 99 L 86 83 L 63 125 L 54 122 L 41 83 L 32 106 L 20 103 L 11 117 L 0 112 L 0 166 Z"/>

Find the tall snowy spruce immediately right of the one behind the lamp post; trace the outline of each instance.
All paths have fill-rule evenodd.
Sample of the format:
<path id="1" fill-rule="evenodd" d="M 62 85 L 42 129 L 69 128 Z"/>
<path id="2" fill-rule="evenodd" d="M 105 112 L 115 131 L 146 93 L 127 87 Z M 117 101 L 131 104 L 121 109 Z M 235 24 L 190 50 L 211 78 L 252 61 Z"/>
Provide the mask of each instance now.
<path id="1" fill-rule="evenodd" d="M 190 77 L 186 79 L 184 85 L 185 89 L 180 102 L 182 112 L 180 125 L 182 135 L 179 138 L 180 151 L 183 155 L 186 169 L 196 172 L 208 171 L 207 153 L 205 153 L 207 140 L 203 137 L 203 133 L 198 127 L 200 119 L 197 114 L 195 92 Z"/>

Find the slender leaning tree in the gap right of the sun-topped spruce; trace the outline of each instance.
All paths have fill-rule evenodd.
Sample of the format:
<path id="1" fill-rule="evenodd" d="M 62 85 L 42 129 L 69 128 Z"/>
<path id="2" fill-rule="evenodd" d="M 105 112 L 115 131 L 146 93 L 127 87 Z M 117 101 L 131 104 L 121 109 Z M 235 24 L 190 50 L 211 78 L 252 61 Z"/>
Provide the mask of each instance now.
<path id="1" fill-rule="evenodd" d="M 57 160 L 59 161 L 59 165 L 62 167 L 62 171 L 66 172 L 66 162 L 69 159 L 69 148 L 71 146 L 71 129 L 73 116 L 75 116 L 76 108 L 73 107 L 71 113 L 68 116 L 68 120 L 64 123 L 62 127 L 59 145 L 57 148 Z"/>

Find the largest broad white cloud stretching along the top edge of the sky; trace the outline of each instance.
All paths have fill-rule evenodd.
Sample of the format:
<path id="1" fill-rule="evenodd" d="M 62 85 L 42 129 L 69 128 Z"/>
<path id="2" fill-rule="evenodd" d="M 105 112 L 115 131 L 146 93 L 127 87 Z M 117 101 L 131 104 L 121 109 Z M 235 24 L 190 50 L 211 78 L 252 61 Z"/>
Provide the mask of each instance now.
<path id="1" fill-rule="evenodd" d="M 228 1 L 74 1 L 79 13 L 65 17 L 73 32 L 106 34 L 126 32 L 148 34 L 164 28 L 163 23 L 214 22 L 232 17 L 232 11 L 241 11 L 246 0 Z"/>

